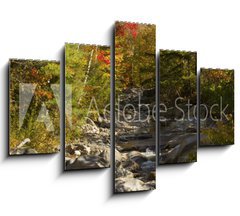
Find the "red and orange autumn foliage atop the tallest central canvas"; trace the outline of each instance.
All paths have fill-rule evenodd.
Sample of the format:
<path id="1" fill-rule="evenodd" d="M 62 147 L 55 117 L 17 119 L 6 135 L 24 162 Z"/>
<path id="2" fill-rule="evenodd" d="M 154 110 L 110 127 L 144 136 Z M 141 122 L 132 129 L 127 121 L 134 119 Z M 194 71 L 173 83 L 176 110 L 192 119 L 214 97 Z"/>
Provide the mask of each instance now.
<path id="1" fill-rule="evenodd" d="M 116 22 L 116 91 L 153 88 L 155 80 L 155 26 Z"/>

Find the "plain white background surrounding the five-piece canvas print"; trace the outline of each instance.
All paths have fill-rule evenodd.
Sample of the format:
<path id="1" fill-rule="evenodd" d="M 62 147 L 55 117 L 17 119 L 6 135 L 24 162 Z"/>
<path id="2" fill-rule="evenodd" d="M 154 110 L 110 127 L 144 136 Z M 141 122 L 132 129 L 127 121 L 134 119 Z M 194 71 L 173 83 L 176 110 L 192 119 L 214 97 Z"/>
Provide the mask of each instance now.
<path id="1" fill-rule="evenodd" d="M 62 154 L 7 157 L 8 58 L 58 59 L 65 42 L 110 44 L 116 20 L 157 25 L 158 49 L 198 52 L 200 67 L 235 69 L 238 1 L 1 0 L 0 215 L 240 215 L 239 113 L 235 145 L 204 148 L 198 162 L 161 166 L 157 190 L 112 195 L 111 169 L 62 172 Z"/>

